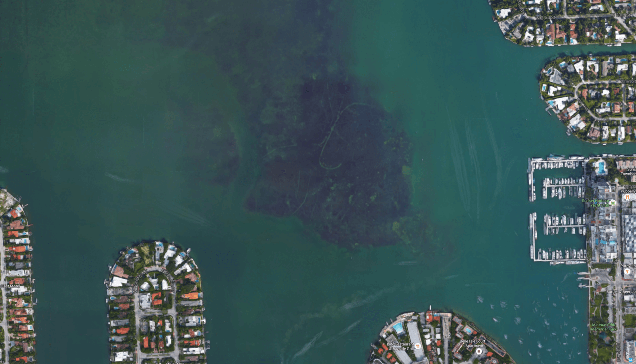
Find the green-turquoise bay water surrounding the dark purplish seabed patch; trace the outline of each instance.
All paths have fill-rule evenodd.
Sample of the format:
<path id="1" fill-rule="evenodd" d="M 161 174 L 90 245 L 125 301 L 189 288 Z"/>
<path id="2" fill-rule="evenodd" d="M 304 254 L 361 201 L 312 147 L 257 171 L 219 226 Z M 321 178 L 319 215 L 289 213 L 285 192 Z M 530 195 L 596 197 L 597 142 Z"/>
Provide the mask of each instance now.
<path id="1" fill-rule="evenodd" d="M 470 318 L 520 364 L 584 362 L 577 268 L 532 263 L 527 231 L 532 211 L 578 207 L 528 203 L 527 158 L 636 150 L 567 137 L 543 111 L 536 75 L 561 52 L 635 46 L 522 48 L 502 38 L 485 1 L 340 5 L 342 53 L 404 116 L 414 203 L 433 227 L 422 255 L 400 246 L 350 253 L 296 220 L 243 210 L 255 173 L 250 135 L 211 56 L 125 36 L 144 19 L 106 28 L 76 4 L 50 16 L 73 24 L 67 32 L 30 6 L 29 36 L 48 46 L 32 50 L 27 72 L 27 52 L 0 50 L 0 164 L 9 171 L 0 184 L 29 203 L 34 223 L 41 361 L 107 363 L 107 265 L 132 241 L 165 237 L 192 248 L 200 266 L 210 363 L 363 362 L 385 321 L 429 305 Z M 235 113 L 244 163 L 228 189 L 207 183 L 168 90 Z M 579 236 L 539 243 L 583 248 Z"/>

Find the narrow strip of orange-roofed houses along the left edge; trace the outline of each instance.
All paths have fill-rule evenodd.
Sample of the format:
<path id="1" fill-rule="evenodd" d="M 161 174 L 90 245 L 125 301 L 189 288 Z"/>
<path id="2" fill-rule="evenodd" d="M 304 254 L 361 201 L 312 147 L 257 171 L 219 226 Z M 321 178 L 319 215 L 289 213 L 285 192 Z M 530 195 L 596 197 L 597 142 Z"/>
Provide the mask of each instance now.
<path id="1" fill-rule="evenodd" d="M 25 205 L 26 206 L 26 205 Z M 19 198 L 0 189 L 0 220 L 3 249 L 0 250 L 0 347 L 3 363 L 36 363 L 31 231 Z"/>

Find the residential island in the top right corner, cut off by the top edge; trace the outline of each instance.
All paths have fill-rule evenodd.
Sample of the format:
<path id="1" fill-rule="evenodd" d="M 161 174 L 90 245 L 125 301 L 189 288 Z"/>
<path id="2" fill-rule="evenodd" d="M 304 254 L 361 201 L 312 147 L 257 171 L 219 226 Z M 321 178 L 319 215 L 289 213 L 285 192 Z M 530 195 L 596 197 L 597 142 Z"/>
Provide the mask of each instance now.
<path id="1" fill-rule="evenodd" d="M 506 39 L 523 46 L 632 43 L 630 0 L 488 0 Z"/>

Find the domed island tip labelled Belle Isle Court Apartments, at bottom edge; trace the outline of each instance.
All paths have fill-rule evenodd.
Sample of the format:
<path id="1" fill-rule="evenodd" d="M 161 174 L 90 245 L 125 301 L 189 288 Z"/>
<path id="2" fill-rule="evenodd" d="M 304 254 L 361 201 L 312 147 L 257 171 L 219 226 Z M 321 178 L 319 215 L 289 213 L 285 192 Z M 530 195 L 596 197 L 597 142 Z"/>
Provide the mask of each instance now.
<path id="1" fill-rule="evenodd" d="M 424 340 L 422 340 L 424 338 Z M 450 350 L 450 351 L 449 351 Z M 368 364 L 515 363 L 474 323 L 453 313 L 404 313 L 387 323 L 371 344 Z"/>

